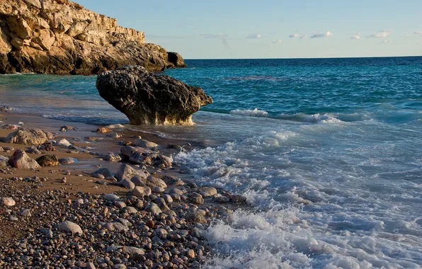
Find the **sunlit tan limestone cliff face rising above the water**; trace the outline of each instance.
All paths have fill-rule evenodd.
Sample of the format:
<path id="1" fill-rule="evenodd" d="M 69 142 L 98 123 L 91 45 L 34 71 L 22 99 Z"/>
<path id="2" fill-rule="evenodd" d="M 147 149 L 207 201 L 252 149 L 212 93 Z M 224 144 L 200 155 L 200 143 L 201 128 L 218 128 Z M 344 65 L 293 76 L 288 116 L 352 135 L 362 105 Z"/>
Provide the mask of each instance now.
<path id="1" fill-rule="evenodd" d="M 122 65 L 185 67 L 145 35 L 67 0 L 0 0 L 0 74 L 97 74 Z"/>

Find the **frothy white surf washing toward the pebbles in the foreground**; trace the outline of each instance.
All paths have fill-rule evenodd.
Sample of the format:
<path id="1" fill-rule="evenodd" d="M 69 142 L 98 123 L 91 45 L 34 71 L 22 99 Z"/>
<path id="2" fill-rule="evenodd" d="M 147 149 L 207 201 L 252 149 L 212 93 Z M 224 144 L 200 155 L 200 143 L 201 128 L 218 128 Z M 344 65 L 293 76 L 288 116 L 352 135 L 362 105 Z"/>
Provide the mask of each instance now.
<path id="1" fill-rule="evenodd" d="M 385 185 L 376 179 L 383 174 L 370 169 L 385 170 L 380 158 L 387 158 L 395 147 L 388 142 L 381 147 L 382 141 L 376 139 L 372 147 L 365 139 L 356 139 L 365 137 L 361 128 L 370 125 L 372 132 L 380 125 L 324 124 L 332 119 L 313 118 L 322 124 L 290 125 L 290 130 L 175 157 L 198 182 L 241 193 L 256 208 L 238 210 L 207 230 L 218 254 L 207 268 L 422 265 L 422 221 L 408 220 L 409 213 L 404 212 L 412 203 L 421 203 L 422 184 Z M 352 147 L 350 141 L 360 142 L 360 147 Z M 420 166 L 420 161 L 414 165 Z M 419 172 L 421 168 L 415 168 L 411 175 Z M 368 178 L 371 173 L 374 177 Z"/>

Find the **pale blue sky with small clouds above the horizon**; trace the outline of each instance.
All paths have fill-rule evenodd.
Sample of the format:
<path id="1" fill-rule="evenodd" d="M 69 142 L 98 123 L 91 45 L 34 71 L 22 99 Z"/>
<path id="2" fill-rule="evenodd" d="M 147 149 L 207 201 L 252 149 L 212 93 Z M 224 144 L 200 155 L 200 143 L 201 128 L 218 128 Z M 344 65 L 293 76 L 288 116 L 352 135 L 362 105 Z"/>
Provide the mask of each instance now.
<path id="1" fill-rule="evenodd" d="M 422 0 L 75 0 L 185 59 L 422 55 Z"/>

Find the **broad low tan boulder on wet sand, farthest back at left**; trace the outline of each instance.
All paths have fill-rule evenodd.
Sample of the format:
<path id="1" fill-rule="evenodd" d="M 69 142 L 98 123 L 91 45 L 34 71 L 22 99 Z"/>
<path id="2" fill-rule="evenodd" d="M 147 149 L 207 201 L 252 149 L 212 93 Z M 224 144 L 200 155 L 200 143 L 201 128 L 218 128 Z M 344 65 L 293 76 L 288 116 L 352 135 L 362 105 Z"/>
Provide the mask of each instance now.
<path id="1" fill-rule="evenodd" d="M 45 132 L 37 128 L 22 128 L 9 134 L 4 142 L 12 144 L 44 144 L 48 139 L 52 139 L 50 132 Z"/>

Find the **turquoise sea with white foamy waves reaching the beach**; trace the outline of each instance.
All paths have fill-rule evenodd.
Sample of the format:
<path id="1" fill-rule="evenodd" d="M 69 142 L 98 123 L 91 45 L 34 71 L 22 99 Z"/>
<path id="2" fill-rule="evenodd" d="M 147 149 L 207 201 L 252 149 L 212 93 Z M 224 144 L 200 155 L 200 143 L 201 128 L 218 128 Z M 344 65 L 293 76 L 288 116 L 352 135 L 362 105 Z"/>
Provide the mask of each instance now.
<path id="1" fill-rule="evenodd" d="M 176 163 L 246 196 L 207 229 L 207 268 L 422 267 L 422 57 L 186 63 L 164 74 L 214 99 L 196 124 L 127 127 L 198 142 Z M 96 76 L 2 75 L 0 105 L 128 123 Z"/>

